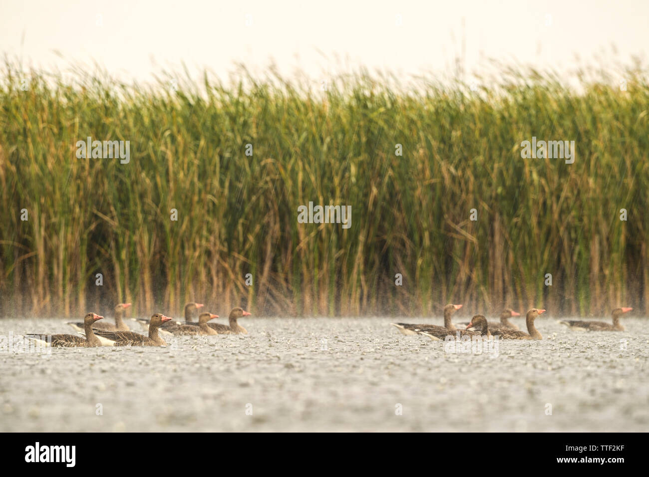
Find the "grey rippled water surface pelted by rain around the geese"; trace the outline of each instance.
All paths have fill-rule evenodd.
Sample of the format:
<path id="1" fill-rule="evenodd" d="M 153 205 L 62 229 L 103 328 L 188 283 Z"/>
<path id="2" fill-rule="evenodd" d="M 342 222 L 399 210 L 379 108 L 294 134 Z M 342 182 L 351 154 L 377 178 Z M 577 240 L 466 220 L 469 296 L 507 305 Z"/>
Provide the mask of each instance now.
<path id="1" fill-rule="evenodd" d="M 593 333 L 539 318 L 543 341 L 502 340 L 482 354 L 403 336 L 393 321 L 441 324 L 245 319 L 248 336 L 180 337 L 166 348 L 21 353 L 5 342 L 0 431 L 647 429 L 645 319 Z M 0 335 L 10 332 L 71 328 L 0 320 Z"/>

